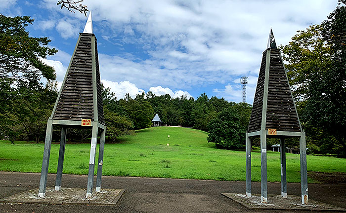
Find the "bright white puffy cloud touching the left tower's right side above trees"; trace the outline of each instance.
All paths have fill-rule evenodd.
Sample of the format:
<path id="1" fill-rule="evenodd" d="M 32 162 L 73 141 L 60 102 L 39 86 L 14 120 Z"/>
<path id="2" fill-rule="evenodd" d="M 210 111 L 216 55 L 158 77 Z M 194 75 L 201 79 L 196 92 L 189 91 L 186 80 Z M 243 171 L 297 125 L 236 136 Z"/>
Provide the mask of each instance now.
<path id="1" fill-rule="evenodd" d="M 127 93 L 130 94 L 131 98 L 135 98 L 137 94 L 142 94 L 142 92 L 144 92 L 144 90 L 139 89 L 130 81 L 121 81 L 118 83 L 102 79 L 101 82 L 103 83 L 104 87 L 109 87 L 111 92 L 115 93 L 118 100 L 124 98 Z"/>

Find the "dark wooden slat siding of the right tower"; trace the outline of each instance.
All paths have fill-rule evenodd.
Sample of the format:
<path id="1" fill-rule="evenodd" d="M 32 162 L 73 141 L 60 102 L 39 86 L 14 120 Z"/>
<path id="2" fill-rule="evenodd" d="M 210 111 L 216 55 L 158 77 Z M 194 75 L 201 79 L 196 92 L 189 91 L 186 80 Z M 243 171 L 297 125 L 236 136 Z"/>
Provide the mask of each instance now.
<path id="1" fill-rule="evenodd" d="M 250 117 L 249 133 L 261 129 L 266 54 L 267 51 L 264 51 Z M 277 48 L 270 48 L 268 97 L 265 121 L 265 130 L 268 129 L 301 132 L 290 86 L 282 64 L 280 50 Z"/>

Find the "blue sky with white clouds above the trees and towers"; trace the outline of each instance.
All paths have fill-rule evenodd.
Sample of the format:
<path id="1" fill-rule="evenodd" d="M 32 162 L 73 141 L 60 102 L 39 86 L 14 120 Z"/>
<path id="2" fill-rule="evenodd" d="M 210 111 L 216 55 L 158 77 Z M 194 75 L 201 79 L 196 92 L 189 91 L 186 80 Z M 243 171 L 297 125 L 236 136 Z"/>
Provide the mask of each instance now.
<path id="1" fill-rule="evenodd" d="M 0 0 L 0 13 L 31 16 L 31 36 L 59 50 L 43 62 L 64 78 L 87 17 L 58 0 Z M 118 99 L 148 91 L 173 98 L 202 93 L 253 104 L 270 28 L 277 45 L 320 24 L 337 0 L 85 0 L 92 11 L 101 82 Z M 44 80 L 44 79 L 43 79 Z"/>

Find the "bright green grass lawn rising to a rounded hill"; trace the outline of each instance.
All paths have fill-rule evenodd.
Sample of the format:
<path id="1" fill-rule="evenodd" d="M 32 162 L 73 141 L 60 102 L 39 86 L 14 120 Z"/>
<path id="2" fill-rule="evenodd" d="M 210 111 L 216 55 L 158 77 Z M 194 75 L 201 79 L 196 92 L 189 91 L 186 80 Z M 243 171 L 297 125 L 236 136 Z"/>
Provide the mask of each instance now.
<path id="1" fill-rule="evenodd" d="M 119 143 L 105 144 L 103 175 L 244 181 L 245 152 L 217 149 L 206 137 L 206 132 L 180 127 L 138 130 Z M 43 143 L 0 141 L 0 171 L 40 173 L 43 147 Z M 89 151 L 89 143 L 66 144 L 63 173 L 86 175 Z M 56 173 L 58 153 L 59 143 L 53 143 L 48 173 Z M 286 159 L 287 181 L 300 182 L 299 155 L 287 153 Z M 281 180 L 279 152 L 267 152 L 267 170 L 268 181 Z M 346 159 L 308 155 L 307 171 L 346 172 Z M 252 153 L 252 180 L 260 181 L 259 152 Z"/>

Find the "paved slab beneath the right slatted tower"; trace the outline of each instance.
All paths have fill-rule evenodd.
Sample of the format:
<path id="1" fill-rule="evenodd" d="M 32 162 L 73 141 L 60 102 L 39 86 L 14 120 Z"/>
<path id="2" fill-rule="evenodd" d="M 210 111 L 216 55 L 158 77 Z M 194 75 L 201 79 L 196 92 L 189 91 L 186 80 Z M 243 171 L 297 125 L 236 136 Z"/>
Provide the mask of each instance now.
<path id="1" fill-rule="evenodd" d="M 346 209 L 325 204 L 322 202 L 309 199 L 308 205 L 302 204 L 302 198 L 296 195 L 288 195 L 282 198 L 281 195 L 268 195 L 268 203 L 260 202 L 260 195 L 252 195 L 247 197 L 245 194 L 221 193 L 223 196 L 253 210 L 290 210 L 290 211 L 337 211 L 346 212 Z"/>

